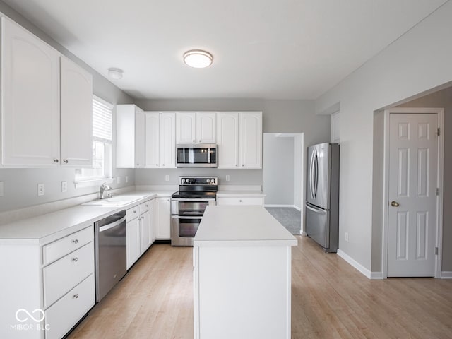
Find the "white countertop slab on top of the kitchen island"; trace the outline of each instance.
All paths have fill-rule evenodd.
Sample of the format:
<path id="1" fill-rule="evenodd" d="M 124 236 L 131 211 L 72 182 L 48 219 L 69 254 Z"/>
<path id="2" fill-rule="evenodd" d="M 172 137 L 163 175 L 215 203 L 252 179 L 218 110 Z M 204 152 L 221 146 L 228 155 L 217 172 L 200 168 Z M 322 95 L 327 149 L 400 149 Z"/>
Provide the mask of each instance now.
<path id="1" fill-rule="evenodd" d="M 208 206 L 194 246 L 297 246 L 297 238 L 262 206 Z"/>

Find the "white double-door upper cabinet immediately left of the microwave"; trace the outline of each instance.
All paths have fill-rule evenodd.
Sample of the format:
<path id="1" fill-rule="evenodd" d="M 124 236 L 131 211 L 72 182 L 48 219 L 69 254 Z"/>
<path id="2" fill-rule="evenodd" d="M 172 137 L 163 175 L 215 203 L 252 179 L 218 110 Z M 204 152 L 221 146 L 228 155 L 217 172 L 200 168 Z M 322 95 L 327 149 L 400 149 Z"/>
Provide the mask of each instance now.
<path id="1" fill-rule="evenodd" d="M 175 141 L 175 112 L 145 112 L 145 167 L 176 167 Z"/>

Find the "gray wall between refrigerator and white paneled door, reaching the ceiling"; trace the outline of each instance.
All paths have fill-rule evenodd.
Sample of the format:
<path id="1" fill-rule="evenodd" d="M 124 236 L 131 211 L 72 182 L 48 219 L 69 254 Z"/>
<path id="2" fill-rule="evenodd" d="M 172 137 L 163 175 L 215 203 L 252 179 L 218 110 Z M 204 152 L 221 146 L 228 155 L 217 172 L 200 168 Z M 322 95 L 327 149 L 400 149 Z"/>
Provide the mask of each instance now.
<path id="1" fill-rule="evenodd" d="M 373 223 L 383 201 L 373 193 L 383 182 L 379 173 L 374 177 L 379 164 L 374 163 L 373 153 L 381 142 L 381 136 L 374 136 L 374 112 L 450 85 L 451 17 L 448 1 L 316 100 L 319 113 L 330 112 L 340 103 L 339 248 L 369 274 L 381 273 L 381 235 L 374 229 L 381 230 L 381 225 Z M 444 270 L 451 268 L 444 266 Z"/>

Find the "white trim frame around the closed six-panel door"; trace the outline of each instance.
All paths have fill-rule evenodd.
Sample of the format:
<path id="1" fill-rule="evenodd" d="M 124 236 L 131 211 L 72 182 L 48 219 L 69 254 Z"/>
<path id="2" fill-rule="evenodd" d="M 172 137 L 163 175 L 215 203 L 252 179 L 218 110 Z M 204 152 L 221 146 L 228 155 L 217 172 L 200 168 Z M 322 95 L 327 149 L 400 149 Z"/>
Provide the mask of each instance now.
<path id="1" fill-rule="evenodd" d="M 441 130 L 438 138 L 438 181 L 439 196 L 436 200 L 436 247 L 438 255 L 435 258 L 435 278 L 442 278 L 442 244 L 443 244 L 443 192 L 444 192 L 444 108 L 429 107 L 393 107 L 384 111 L 384 160 L 383 160 L 383 248 L 382 269 L 383 278 L 388 278 L 388 201 L 389 201 L 389 114 L 437 114 L 438 127 Z"/>

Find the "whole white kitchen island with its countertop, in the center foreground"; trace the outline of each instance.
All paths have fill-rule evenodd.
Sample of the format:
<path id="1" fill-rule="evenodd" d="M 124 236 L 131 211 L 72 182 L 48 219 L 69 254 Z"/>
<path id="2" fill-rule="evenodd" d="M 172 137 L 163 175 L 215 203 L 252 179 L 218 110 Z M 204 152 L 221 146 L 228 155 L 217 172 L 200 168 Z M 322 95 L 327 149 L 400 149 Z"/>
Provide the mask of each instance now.
<path id="1" fill-rule="evenodd" d="M 208 206 L 194 238 L 194 338 L 290 338 L 291 246 L 261 206 Z"/>

